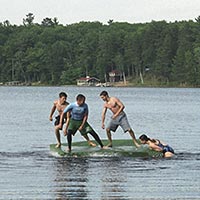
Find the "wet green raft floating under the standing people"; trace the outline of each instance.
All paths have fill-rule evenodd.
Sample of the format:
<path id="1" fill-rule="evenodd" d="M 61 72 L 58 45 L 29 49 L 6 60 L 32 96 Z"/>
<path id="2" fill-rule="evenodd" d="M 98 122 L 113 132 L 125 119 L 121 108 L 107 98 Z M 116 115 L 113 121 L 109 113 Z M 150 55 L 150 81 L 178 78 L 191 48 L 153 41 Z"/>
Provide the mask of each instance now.
<path id="1" fill-rule="evenodd" d="M 96 143 L 95 141 L 93 142 Z M 108 141 L 102 140 L 102 142 L 103 144 L 107 144 Z M 101 149 L 98 145 L 91 147 L 86 141 L 73 142 L 71 152 L 66 151 L 67 143 L 62 143 L 61 148 L 56 148 L 55 146 L 56 144 L 50 144 L 51 154 L 60 157 L 163 157 L 161 152 L 151 150 L 146 145 L 141 145 L 139 148 L 136 148 L 133 141 L 128 139 L 113 140 L 113 147 L 108 149 Z"/>

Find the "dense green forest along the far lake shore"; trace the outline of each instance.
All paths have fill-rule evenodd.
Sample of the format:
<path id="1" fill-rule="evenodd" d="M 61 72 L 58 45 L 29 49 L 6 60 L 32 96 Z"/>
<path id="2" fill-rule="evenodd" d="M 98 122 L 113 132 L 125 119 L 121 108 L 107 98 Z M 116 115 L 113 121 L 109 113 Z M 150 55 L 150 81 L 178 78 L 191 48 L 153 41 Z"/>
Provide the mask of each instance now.
<path id="1" fill-rule="evenodd" d="M 76 84 L 112 70 L 129 82 L 200 86 L 200 16 L 195 21 L 130 24 L 109 20 L 59 24 L 57 18 L 23 25 L 0 23 L 0 82 Z"/>

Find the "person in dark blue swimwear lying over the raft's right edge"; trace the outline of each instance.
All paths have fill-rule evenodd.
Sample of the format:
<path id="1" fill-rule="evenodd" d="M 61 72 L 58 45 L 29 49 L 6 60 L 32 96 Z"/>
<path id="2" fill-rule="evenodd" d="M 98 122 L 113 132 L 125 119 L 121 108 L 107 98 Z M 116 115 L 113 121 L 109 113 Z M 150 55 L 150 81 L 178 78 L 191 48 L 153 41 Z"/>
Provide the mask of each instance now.
<path id="1" fill-rule="evenodd" d="M 139 137 L 142 144 L 147 144 L 151 149 L 163 153 L 163 157 L 169 158 L 174 155 L 174 150 L 167 144 L 164 144 L 158 139 L 150 139 L 147 135 L 143 134 Z"/>

